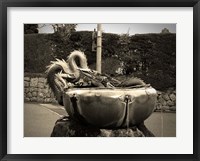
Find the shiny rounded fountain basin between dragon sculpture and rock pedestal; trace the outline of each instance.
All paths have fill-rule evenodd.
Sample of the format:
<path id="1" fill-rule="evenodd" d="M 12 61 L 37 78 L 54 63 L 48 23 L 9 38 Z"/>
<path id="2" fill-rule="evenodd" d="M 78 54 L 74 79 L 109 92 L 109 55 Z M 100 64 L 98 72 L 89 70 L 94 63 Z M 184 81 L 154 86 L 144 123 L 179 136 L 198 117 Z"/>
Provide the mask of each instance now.
<path id="1" fill-rule="evenodd" d="M 142 123 L 153 112 L 157 93 L 152 87 L 73 88 L 63 95 L 69 116 L 99 128 L 123 128 Z"/>

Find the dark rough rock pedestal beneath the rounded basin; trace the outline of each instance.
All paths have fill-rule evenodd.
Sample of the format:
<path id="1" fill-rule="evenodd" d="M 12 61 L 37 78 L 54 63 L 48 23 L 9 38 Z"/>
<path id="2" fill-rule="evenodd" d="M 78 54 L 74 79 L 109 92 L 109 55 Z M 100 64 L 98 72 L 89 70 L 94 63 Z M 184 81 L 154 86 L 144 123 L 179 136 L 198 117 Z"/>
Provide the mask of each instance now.
<path id="1" fill-rule="evenodd" d="M 144 124 L 123 129 L 100 129 L 64 116 L 56 121 L 51 137 L 153 137 Z"/>

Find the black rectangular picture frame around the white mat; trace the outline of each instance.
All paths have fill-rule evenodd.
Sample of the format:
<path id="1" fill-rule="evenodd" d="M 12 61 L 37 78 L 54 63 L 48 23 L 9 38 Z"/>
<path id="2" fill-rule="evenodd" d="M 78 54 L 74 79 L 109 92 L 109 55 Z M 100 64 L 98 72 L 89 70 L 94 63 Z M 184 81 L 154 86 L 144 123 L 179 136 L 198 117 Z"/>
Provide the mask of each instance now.
<path id="1" fill-rule="evenodd" d="M 7 8 L 8 7 L 193 7 L 193 154 L 7 154 Z M 0 159 L 1 160 L 200 160 L 200 2 L 199 0 L 1 0 L 0 1 Z M 191 87 L 192 88 L 192 87 Z M 187 129 L 187 127 L 186 127 Z"/>

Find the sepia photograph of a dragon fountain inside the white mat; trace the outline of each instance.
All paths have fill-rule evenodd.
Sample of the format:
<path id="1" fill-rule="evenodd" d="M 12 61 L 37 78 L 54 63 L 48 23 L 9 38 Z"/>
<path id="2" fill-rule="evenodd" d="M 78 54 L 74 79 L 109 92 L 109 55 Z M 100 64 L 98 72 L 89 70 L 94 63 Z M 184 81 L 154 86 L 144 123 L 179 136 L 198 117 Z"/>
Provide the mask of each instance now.
<path id="1" fill-rule="evenodd" d="M 176 137 L 176 24 L 24 24 L 24 137 Z"/>

